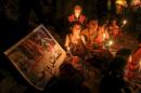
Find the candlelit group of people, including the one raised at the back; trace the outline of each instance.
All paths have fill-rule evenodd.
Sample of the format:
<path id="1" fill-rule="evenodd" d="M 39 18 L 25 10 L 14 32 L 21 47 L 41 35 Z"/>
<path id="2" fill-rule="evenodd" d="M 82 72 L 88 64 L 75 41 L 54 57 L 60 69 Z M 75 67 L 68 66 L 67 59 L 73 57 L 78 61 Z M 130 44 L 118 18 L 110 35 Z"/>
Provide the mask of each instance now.
<path id="1" fill-rule="evenodd" d="M 81 11 L 81 6 L 76 5 L 74 14 L 68 16 L 70 34 L 66 35 L 65 39 L 65 48 L 77 56 L 82 56 L 87 49 L 103 49 L 108 40 L 116 39 L 120 35 L 116 19 L 110 23 L 97 18 L 87 19 Z"/>

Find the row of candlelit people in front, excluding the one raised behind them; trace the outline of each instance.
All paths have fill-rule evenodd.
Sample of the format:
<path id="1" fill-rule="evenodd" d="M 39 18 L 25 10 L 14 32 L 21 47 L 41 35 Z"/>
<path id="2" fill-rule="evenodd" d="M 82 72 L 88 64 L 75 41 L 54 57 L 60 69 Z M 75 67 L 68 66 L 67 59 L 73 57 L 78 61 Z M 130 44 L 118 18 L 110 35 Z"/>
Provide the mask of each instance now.
<path id="1" fill-rule="evenodd" d="M 78 56 L 82 55 L 87 49 L 103 49 L 105 42 L 116 39 L 118 36 L 119 27 L 115 21 L 107 26 L 106 24 L 99 24 L 98 19 L 91 19 L 86 28 L 79 22 L 74 22 L 70 34 L 66 35 L 65 48 L 69 48 L 72 53 Z"/>

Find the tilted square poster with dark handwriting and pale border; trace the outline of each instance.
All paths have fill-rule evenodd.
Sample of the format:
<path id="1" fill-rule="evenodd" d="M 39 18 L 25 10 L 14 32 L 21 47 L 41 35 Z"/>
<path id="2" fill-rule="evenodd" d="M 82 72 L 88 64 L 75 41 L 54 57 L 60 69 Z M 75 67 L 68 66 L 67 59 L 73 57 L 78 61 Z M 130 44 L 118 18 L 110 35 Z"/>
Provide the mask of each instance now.
<path id="1" fill-rule="evenodd" d="M 9 57 L 22 76 L 38 90 L 43 90 L 66 53 L 43 25 L 38 26 L 24 39 L 7 50 Z"/>

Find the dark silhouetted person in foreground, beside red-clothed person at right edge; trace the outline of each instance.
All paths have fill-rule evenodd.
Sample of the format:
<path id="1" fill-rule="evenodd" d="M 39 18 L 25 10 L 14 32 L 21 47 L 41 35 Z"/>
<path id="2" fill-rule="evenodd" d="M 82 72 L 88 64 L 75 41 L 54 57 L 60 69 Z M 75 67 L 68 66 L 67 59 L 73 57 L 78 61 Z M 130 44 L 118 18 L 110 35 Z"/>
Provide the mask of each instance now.
<path id="1" fill-rule="evenodd" d="M 100 83 L 100 93 L 131 93 L 129 84 L 124 80 L 126 61 L 121 57 L 112 59 L 107 72 Z"/>

